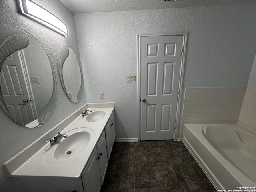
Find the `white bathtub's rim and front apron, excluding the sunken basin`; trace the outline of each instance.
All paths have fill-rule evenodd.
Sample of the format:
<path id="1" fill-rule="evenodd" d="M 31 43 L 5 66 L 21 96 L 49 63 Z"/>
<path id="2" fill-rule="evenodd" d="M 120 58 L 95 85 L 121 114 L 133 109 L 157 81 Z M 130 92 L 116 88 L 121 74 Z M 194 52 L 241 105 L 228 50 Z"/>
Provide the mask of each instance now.
<path id="1" fill-rule="evenodd" d="M 224 183 L 223 178 L 225 177 L 225 175 L 230 177 L 231 180 L 229 182 L 238 182 L 238 184 L 236 184 L 237 186 L 239 186 L 239 185 L 240 186 L 255 186 L 256 183 L 254 181 L 252 181 L 250 178 L 245 176 L 242 172 L 240 172 L 240 170 L 238 170 L 235 166 L 233 166 L 230 162 L 228 162 L 228 160 L 226 160 L 206 140 L 206 138 L 203 135 L 202 129 L 205 126 L 212 126 L 212 125 L 227 126 L 227 127 L 231 127 L 231 128 L 238 129 L 240 131 L 245 131 L 245 132 L 255 135 L 255 132 L 252 132 L 251 130 L 248 130 L 238 124 L 233 124 L 233 123 L 232 124 L 223 124 L 223 123 L 222 124 L 209 124 L 209 123 L 208 124 L 184 124 L 182 142 L 184 143 L 184 145 L 186 146 L 188 151 L 195 158 L 196 162 L 202 168 L 202 170 L 204 171 L 204 173 L 206 174 L 206 176 L 208 177 L 210 182 L 212 182 L 213 186 L 216 189 L 223 190 L 226 188 L 225 186 L 223 186 L 223 183 Z M 194 132 L 191 129 L 194 129 Z M 210 161 L 210 163 L 206 164 L 206 162 L 205 162 L 206 160 L 204 160 L 200 156 L 200 154 L 198 154 L 198 151 L 195 150 L 193 144 L 190 143 L 191 139 L 193 139 L 192 140 L 193 144 L 199 144 L 200 145 L 199 148 L 201 148 L 201 150 L 203 149 L 205 153 L 207 153 L 209 156 L 211 156 L 212 161 Z M 200 151 L 199 151 L 199 153 L 202 154 L 202 152 L 200 152 Z M 218 173 L 216 173 L 216 170 L 215 169 L 212 170 L 211 168 L 209 168 L 209 166 L 211 166 L 211 167 L 222 166 L 222 170 L 225 170 L 225 174 L 222 173 L 223 175 L 218 175 Z M 219 168 L 220 167 L 218 167 L 218 169 Z M 237 179 L 237 178 L 244 178 L 244 177 L 248 178 L 248 180 L 246 179 L 244 181 L 241 179 Z M 232 188 L 234 188 L 234 187 L 232 186 Z M 226 189 L 230 189 L 230 188 L 226 188 Z"/>

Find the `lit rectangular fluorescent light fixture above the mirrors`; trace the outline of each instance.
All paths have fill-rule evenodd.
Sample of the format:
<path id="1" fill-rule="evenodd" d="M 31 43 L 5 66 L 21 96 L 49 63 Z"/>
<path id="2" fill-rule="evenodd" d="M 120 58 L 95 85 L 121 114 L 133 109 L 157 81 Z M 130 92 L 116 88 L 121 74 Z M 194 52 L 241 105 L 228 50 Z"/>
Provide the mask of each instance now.
<path id="1" fill-rule="evenodd" d="M 20 4 L 20 13 L 56 31 L 59 34 L 68 36 L 68 27 L 48 10 L 30 0 L 18 0 L 18 2 Z"/>

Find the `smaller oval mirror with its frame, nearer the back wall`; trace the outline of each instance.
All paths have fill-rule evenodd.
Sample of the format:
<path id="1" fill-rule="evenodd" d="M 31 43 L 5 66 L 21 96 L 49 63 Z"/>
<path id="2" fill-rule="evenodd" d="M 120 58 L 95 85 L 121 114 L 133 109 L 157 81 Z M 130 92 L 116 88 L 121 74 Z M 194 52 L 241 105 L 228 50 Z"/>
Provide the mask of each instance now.
<path id="1" fill-rule="evenodd" d="M 58 60 L 60 63 L 60 80 L 68 98 L 78 103 L 82 97 L 82 69 L 75 52 L 67 45 L 60 48 Z"/>

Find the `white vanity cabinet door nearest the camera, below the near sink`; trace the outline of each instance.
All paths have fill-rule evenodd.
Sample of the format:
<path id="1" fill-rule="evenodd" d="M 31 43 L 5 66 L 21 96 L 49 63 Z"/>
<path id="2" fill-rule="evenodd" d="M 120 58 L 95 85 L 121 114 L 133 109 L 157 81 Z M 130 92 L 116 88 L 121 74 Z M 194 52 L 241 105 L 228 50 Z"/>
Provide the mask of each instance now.
<path id="1" fill-rule="evenodd" d="M 100 192 L 100 170 L 96 148 L 93 150 L 92 156 L 82 174 L 82 182 L 85 192 Z"/>

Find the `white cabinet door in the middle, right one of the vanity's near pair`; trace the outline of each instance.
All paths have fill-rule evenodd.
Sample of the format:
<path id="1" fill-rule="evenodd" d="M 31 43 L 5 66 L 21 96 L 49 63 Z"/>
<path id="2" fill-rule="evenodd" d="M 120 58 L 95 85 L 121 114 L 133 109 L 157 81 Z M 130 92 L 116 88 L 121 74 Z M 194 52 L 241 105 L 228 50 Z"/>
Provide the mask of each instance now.
<path id="1" fill-rule="evenodd" d="M 100 180 L 101 185 L 103 185 L 104 177 L 108 168 L 108 154 L 107 154 L 107 146 L 106 146 L 106 138 L 105 138 L 105 131 L 103 131 L 98 144 L 97 144 L 97 152 L 99 168 L 100 168 Z"/>

